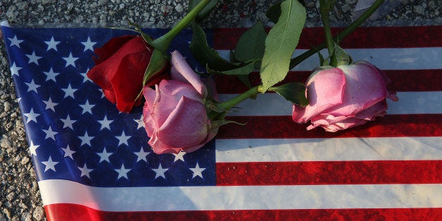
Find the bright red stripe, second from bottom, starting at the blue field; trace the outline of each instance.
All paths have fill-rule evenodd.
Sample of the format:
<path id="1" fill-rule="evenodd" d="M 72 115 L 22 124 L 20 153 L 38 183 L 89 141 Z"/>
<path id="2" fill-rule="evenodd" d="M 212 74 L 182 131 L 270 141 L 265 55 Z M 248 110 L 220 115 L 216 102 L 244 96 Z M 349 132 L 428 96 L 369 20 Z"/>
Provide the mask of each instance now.
<path id="1" fill-rule="evenodd" d="M 274 151 L 278 151 L 275 149 Z M 442 160 L 217 163 L 219 186 L 437 184 Z"/>

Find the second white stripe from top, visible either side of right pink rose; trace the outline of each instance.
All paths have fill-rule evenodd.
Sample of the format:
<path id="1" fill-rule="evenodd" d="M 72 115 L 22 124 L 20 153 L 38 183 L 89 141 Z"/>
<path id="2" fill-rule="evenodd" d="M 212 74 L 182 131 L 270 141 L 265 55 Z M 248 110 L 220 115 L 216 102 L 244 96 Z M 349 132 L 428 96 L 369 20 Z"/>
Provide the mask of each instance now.
<path id="1" fill-rule="evenodd" d="M 237 94 L 220 94 L 221 101 Z M 389 114 L 442 113 L 442 91 L 398 92 L 399 101 L 387 99 Z M 265 105 L 263 105 L 265 103 Z M 412 105 L 410 105 L 412 103 Z M 256 100 L 247 99 L 237 105 L 230 116 L 291 115 L 292 105 L 278 94 L 258 94 Z"/>

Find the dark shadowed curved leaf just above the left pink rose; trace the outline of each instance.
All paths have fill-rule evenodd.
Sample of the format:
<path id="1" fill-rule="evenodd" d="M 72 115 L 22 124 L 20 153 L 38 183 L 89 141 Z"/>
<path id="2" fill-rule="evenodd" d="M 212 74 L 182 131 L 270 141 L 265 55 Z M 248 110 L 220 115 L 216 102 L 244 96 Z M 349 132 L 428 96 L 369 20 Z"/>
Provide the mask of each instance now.
<path id="1" fill-rule="evenodd" d="M 208 66 L 212 70 L 231 70 L 237 68 L 237 65 L 226 61 L 220 57 L 214 49 L 207 44 L 206 33 L 197 25 L 192 24 L 194 34 L 189 49 L 198 63 L 203 66 Z"/>

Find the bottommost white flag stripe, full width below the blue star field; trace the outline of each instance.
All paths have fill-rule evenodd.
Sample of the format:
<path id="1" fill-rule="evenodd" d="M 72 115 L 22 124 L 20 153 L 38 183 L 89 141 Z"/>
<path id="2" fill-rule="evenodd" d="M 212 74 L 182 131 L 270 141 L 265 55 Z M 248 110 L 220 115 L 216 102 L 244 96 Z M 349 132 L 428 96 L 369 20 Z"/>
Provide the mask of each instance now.
<path id="1" fill-rule="evenodd" d="M 55 179 L 40 181 L 39 188 L 44 205 L 105 211 L 442 207 L 441 184 L 103 188 Z"/>

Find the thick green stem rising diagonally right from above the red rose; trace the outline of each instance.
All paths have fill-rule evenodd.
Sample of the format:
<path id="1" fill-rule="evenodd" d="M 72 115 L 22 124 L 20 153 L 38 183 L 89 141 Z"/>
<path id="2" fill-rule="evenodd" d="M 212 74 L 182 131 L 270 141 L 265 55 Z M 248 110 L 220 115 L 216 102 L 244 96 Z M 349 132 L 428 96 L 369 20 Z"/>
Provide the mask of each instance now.
<path id="1" fill-rule="evenodd" d="M 172 42 L 174 37 L 177 36 L 177 34 L 181 32 L 185 27 L 187 27 L 187 25 L 189 25 L 189 23 L 191 23 L 191 21 L 193 21 L 194 18 L 196 18 L 196 15 L 198 15 L 198 13 L 201 10 L 203 10 L 203 8 L 206 7 L 206 5 L 209 4 L 210 1 L 211 0 L 200 1 L 200 3 L 198 3 L 195 6 L 195 8 L 193 8 L 189 13 L 187 13 L 187 15 L 184 16 L 184 18 L 182 18 L 182 20 L 180 20 L 179 23 L 177 23 L 177 25 L 172 27 L 172 29 L 169 32 L 164 34 L 162 37 L 153 40 L 150 43 L 151 46 L 153 46 L 154 48 L 160 51 L 167 51 L 169 48 L 169 44 L 170 42 Z"/>

